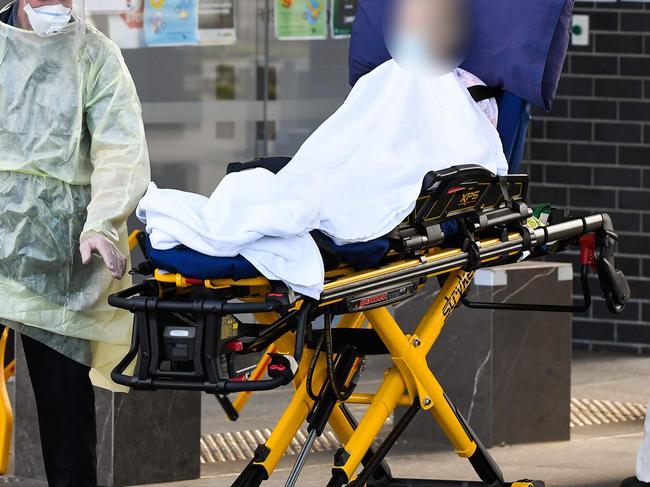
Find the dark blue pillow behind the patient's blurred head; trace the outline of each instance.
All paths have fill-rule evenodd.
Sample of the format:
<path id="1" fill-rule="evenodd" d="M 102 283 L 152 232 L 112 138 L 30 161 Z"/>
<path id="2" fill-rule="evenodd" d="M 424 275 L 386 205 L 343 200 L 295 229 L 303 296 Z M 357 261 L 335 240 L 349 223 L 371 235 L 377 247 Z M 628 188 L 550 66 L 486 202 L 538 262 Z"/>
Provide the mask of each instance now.
<path id="1" fill-rule="evenodd" d="M 359 0 L 350 83 L 390 59 L 383 36 L 389 0 Z M 462 68 L 550 110 L 569 46 L 575 0 L 472 0 L 474 43 Z"/>

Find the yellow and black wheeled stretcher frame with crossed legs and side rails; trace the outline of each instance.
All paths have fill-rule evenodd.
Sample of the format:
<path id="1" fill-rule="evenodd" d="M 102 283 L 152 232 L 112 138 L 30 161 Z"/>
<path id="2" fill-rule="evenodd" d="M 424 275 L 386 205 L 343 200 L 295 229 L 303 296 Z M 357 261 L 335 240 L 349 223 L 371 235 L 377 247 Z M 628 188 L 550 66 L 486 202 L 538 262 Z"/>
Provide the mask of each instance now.
<path id="1" fill-rule="evenodd" d="M 313 442 L 327 424 L 342 445 L 334 455 L 327 487 L 539 487 L 543 485 L 539 481 L 504 480 L 426 361 L 449 316 L 461 304 L 584 311 L 591 303 L 587 278 L 590 267 L 598 272 L 609 309 L 618 313 L 625 306 L 630 290 L 623 274 L 613 266 L 618 237 L 610 217 L 565 216 L 555 218 L 548 226 L 531 228 L 527 222 L 532 210 L 523 202 L 526 185 L 526 176 L 497 178 L 476 166 L 430 173 L 425 177 L 422 196 L 413 213 L 393 232 L 399 245 L 378 267 L 355 270 L 339 265 L 331 269 L 318 300 L 295 296 L 263 277 L 205 280 L 155 270 L 153 278 L 109 298 L 110 304 L 132 311 L 136 318 L 131 349 L 112 378 L 142 390 L 184 389 L 215 394 L 233 420 L 238 418 L 251 392 L 293 383 L 295 393 L 289 406 L 233 487 L 255 487 L 267 480 L 305 421 L 307 440 L 289 474 L 287 487 L 296 485 Z M 460 239 L 456 238 L 458 245 L 443 248 L 440 244 L 445 235 L 441 225 L 450 219 L 459 222 Z M 142 235 L 139 238 L 142 243 Z M 561 251 L 569 244 L 579 245 L 581 251 L 583 304 L 511 305 L 473 303 L 467 299 L 477 269 L 516 262 L 525 254 L 546 255 L 550 248 Z M 151 266 L 144 268 L 151 270 Z M 388 307 L 417 293 L 432 278 L 439 280 L 440 291 L 415 332 L 404 333 Z M 254 314 L 257 324 L 240 323 L 236 332 L 224 335 L 226 317 L 245 313 Z M 177 327 L 167 325 L 177 321 L 181 314 L 184 320 L 191 318 L 195 322 L 191 328 L 194 339 L 186 340 L 182 344 L 185 348 L 178 349 L 187 354 L 183 359 L 187 370 L 173 366 L 179 357 L 174 359 L 174 340 L 168 338 L 165 342 L 160 338 L 167 336 L 161 326 Z M 314 330 L 311 322 L 321 315 L 325 317 L 325 328 Z M 333 316 L 342 316 L 334 329 Z M 191 353 L 187 348 L 190 345 Z M 220 369 L 222 359 L 265 351 L 247 380 L 233 379 L 229 372 L 224 375 Z M 370 354 L 389 354 L 393 365 L 374 393 L 359 393 L 356 383 L 365 356 Z M 137 373 L 125 375 L 134 361 L 138 362 Z M 165 368 L 164 363 L 171 365 Z M 263 378 L 265 373 L 268 379 Z M 234 403 L 226 397 L 231 393 L 241 393 Z M 358 423 L 347 404 L 368 405 Z M 406 406 L 406 413 L 374 450 L 373 441 L 397 406 Z M 455 452 L 469 460 L 480 481 L 393 478 L 385 456 L 418 411 L 433 416 Z"/>

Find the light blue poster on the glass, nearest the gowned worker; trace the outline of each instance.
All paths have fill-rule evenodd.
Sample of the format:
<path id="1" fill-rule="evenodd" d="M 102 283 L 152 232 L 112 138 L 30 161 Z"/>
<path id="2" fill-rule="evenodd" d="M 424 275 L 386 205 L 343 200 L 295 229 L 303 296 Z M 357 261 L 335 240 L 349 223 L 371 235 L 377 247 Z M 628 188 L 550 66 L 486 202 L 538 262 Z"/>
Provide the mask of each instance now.
<path id="1" fill-rule="evenodd" d="M 147 46 L 181 46 L 199 42 L 198 0 L 145 0 Z"/>

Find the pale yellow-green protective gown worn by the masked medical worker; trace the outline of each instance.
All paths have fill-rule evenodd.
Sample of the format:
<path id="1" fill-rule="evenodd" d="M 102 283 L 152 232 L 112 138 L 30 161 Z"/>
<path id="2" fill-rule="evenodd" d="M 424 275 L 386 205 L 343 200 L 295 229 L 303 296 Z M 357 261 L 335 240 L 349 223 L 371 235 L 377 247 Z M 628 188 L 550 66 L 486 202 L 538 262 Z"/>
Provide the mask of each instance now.
<path id="1" fill-rule="evenodd" d="M 118 390 L 110 371 L 132 316 L 107 298 L 130 278 L 114 280 L 99 258 L 83 265 L 79 241 L 101 234 L 129 255 L 126 219 L 149 158 L 118 48 L 90 26 L 84 34 L 0 23 L 0 322 L 90 362 L 93 382 Z"/>

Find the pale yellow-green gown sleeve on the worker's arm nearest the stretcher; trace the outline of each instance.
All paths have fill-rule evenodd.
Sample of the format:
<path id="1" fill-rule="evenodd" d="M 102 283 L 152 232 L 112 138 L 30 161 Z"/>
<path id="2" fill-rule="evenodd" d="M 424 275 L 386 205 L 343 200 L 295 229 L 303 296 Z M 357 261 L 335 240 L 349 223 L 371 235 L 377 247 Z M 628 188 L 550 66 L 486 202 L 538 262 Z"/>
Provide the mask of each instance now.
<path id="1" fill-rule="evenodd" d="M 85 90 L 90 134 L 91 201 L 80 240 L 98 233 L 114 243 L 151 180 L 142 109 L 116 47 L 91 62 Z"/>

